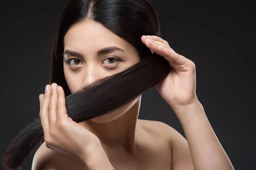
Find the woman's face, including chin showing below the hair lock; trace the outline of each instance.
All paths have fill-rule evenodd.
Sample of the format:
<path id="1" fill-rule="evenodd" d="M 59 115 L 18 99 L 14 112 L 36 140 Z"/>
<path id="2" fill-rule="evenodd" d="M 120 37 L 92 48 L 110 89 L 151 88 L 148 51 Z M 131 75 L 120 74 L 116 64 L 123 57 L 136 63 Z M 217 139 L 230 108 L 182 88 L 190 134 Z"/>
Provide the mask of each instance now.
<path id="1" fill-rule="evenodd" d="M 64 37 L 64 76 L 71 93 L 139 61 L 136 48 L 92 20 L 74 25 Z M 115 89 L 109 90 L 115 93 Z M 122 116 L 138 99 L 140 97 L 110 114 L 91 120 L 110 122 Z"/>

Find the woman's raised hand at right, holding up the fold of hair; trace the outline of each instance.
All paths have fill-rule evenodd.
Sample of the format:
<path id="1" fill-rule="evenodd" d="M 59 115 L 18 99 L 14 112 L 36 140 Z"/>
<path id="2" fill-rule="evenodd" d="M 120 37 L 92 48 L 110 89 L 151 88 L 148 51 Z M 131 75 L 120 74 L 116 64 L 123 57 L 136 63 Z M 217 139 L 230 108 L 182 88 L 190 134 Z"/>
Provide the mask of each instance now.
<path id="1" fill-rule="evenodd" d="M 157 36 L 141 37 L 142 42 L 168 60 L 172 70 L 167 77 L 156 85 L 158 93 L 172 107 L 197 102 L 195 94 L 195 64 L 186 57 L 177 54 L 168 42 Z"/>

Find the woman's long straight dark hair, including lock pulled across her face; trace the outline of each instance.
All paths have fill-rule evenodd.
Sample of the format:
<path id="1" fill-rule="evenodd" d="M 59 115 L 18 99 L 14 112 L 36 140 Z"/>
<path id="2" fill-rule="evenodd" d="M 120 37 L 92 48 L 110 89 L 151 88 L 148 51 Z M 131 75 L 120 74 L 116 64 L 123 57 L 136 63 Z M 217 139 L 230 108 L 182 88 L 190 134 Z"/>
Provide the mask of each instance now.
<path id="1" fill-rule="evenodd" d="M 133 45 L 140 62 L 71 94 L 63 70 L 64 35 L 71 26 L 87 19 L 102 24 Z M 72 0 L 68 3 L 52 41 L 49 84 L 55 82 L 64 89 L 67 114 L 73 121 L 83 122 L 121 108 L 167 76 L 171 69 L 167 60 L 156 53 L 151 54 L 141 41 L 143 35 L 160 37 L 157 12 L 148 0 Z M 114 88 L 115 93 L 109 91 L 110 88 Z M 26 158 L 43 142 L 38 114 L 10 142 L 2 158 L 3 166 L 8 170 L 20 170 Z"/>

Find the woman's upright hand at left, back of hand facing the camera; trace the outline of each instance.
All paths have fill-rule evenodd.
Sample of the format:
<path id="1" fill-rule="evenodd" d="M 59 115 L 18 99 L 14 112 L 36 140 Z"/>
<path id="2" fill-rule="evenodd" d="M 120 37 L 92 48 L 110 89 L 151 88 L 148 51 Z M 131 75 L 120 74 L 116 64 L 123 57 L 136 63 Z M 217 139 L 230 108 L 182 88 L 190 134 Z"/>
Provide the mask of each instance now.
<path id="1" fill-rule="evenodd" d="M 82 161 L 89 159 L 94 150 L 102 148 L 99 138 L 67 115 L 64 90 L 61 86 L 53 83 L 47 85 L 45 90 L 45 94 L 40 94 L 39 98 L 46 146 L 77 156 Z"/>

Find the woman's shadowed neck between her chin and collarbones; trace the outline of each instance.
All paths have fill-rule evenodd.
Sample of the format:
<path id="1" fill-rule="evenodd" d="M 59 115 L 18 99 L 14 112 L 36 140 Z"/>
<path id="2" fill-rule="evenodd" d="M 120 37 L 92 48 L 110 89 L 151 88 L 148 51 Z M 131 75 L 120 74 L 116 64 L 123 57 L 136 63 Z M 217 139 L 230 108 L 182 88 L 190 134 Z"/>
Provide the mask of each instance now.
<path id="1" fill-rule="evenodd" d="M 111 122 L 98 123 L 88 120 L 85 123 L 92 133 L 100 140 L 102 147 L 109 150 L 122 150 L 126 153 L 135 153 L 135 132 L 137 119 L 140 110 L 141 96 L 138 97 L 134 105 L 122 116 Z M 118 109 L 117 111 L 121 111 Z"/>

